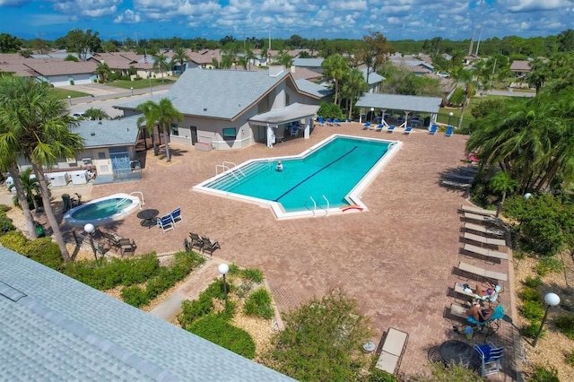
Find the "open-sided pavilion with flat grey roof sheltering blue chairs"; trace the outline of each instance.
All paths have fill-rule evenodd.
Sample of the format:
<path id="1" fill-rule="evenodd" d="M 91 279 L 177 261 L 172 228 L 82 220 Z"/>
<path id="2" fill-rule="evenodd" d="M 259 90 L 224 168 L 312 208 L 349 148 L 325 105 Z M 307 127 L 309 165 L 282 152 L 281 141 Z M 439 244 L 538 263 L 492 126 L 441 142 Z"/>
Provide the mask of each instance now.
<path id="1" fill-rule="evenodd" d="M 365 115 L 365 113 L 362 113 L 363 108 L 370 109 L 371 112 L 374 112 L 375 109 L 381 109 L 381 124 L 384 126 L 388 126 L 387 121 L 385 121 L 387 110 L 403 110 L 404 122 L 399 127 L 406 127 L 409 126 L 409 114 L 412 112 L 429 113 L 431 114 L 431 124 L 435 123 L 441 102 L 442 99 L 440 97 L 363 93 L 361 98 L 357 100 L 356 106 L 361 108 L 361 118 L 359 120 L 361 123 L 362 116 Z"/>

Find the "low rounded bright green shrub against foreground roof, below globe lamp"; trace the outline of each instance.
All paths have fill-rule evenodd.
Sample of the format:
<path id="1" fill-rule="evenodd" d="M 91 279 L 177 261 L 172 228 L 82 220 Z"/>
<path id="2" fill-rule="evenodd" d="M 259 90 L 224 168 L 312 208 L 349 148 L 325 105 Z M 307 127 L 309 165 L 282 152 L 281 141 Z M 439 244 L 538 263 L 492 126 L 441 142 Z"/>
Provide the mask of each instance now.
<path id="1" fill-rule="evenodd" d="M 249 360 L 255 357 L 255 342 L 251 335 L 231 326 L 219 315 L 210 314 L 198 319 L 189 327 L 189 331 Z"/>

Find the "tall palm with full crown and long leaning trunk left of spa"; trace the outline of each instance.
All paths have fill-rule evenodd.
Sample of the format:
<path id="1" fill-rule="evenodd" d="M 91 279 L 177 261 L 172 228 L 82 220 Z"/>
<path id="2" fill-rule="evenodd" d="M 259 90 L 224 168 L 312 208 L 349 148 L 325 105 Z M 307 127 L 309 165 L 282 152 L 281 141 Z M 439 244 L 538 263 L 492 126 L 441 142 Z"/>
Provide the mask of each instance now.
<path id="1" fill-rule="evenodd" d="M 64 260 L 69 261 L 64 237 L 50 204 L 44 168 L 52 167 L 59 159 L 74 158 L 83 151 L 83 138 L 72 133 L 75 121 L 68 114 L 65 102 L 54 96 L 48 83 L 14 78 L 9 85 L 11 89 L 2 94 L 0 101 L 0 126 L 3 126 L 0 152 L 17 152 L 30 161 L 54 239 Z"/>

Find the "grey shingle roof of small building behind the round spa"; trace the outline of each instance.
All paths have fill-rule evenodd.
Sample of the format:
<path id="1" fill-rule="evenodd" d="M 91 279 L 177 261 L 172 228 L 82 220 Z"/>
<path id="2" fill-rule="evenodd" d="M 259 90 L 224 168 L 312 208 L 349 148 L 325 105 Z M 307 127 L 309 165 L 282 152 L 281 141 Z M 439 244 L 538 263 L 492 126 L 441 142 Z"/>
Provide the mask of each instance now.
<path id="1" fill-rule="evenodd" d="M 137 140 L 138 117 L 140 116 L 101 121 L 81 120 L 72 132 L 83 137 L 86 148 L 134 145 Z"/>

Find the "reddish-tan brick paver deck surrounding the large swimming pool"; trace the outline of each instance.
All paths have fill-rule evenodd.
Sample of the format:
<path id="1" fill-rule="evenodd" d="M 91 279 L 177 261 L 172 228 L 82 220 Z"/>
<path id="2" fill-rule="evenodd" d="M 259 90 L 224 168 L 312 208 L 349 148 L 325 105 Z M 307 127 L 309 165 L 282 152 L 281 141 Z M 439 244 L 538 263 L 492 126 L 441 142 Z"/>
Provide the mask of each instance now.
<path id="1" fill-rule="evenodd" d="M 266 208 L 191 189 L 213 177 L 215 165 L 222 161 L 239 164 L 248 159 L 298 154 L 334 133 L 404 142 L 363 192 L 362 202 L 369 212 L 277 221 Z M 454 302 L 448 297 L 448 288 L 455 282 L 466 282 L 453 274 L 459 261 L 509 273 L 500 302 L 510 317 L 515 310 L 510 299 L 513 278 L 508 261 L 493 265 L 458 254 L 463 245 L 458 210 L 469 202 L 463 191 L 442 187 L 440 175 L 465 166 L 466 140 L 465 135 L 428 135 L 424 129 L 403 135 L 402 129 L 391 134 L 345 123 L 316 126 L 309 140 L 290 140 L 273 149 L 257 143 L 239 151 L 200 152 L 170 144 L 170 163 L 149 151 L 141 180 L 88 187 L 83 200 L 140 191 L 145 199 L 143 208 L 157 209 L 160 215 L 181 207 L 183 222 L 165 233 L 143 228 L 136 213 L 103 228 L 135 239 L 137 255 L 182 249 L 190 231 L 218 239 L 222 249 L 214 257 L 260 268 L 282 311 L 341 288 L 358 301 L 364 315 L 372 318 L 373 342 L 379 343 L 389 327 L 409 334 L 400 373 L 412 375 L 426 369 L 431 347 L 449 339 L 468 342 L 452 331 L 453 323 L 444 317 L 445 309 Z M 500 330 L 489 337 L 506 347 L 501 372 L 491 380 L 517 378 L 520 367 L 512 357 L 513 336 L 512 326 L 502 322 Z M 475 336 L 472 343 L 477 342 L 483 342 L 483 335 Z"/>

